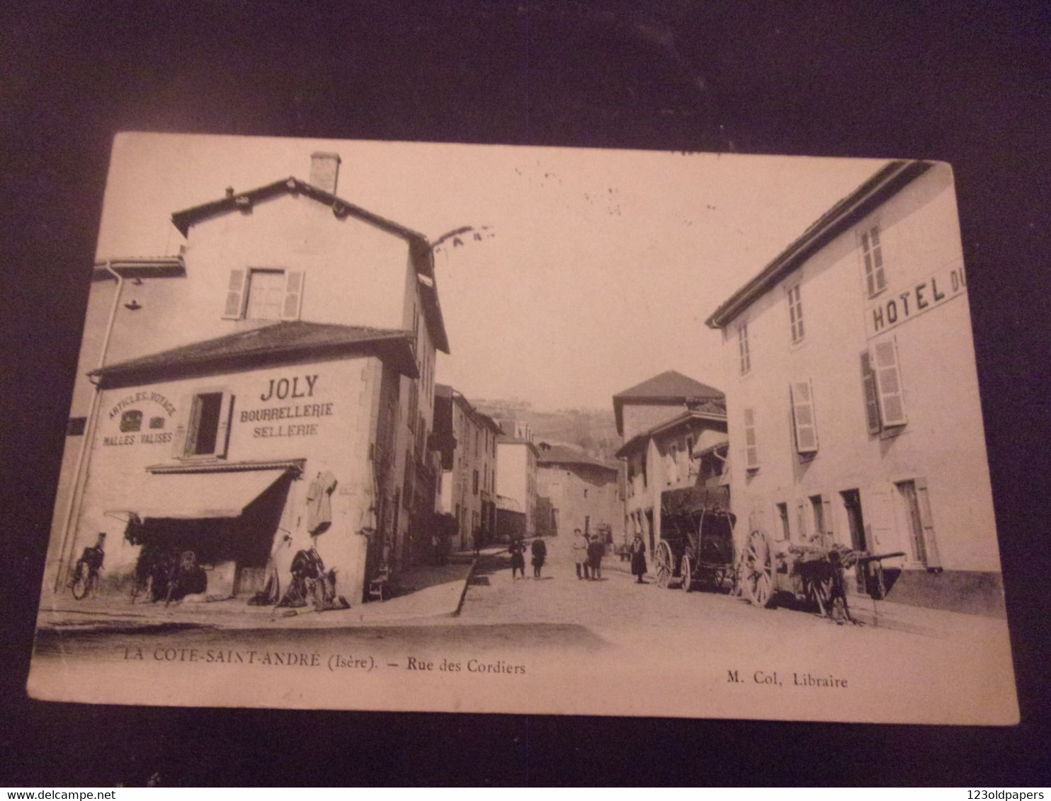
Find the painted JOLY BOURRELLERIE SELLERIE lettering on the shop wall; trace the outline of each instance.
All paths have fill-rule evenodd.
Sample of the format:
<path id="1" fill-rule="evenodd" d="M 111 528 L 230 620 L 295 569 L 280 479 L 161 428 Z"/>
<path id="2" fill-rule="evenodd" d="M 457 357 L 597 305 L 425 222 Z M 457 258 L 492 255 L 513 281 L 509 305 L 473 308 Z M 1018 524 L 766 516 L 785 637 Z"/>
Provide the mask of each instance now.
<path id="1" fill-rule="evenodd" d="M 332 402 L 315 398 L 317 374 L 267 378 L 262 388 L 249 396 L 252 408 L 236 413 L 238 422 L 261 423 L 252 426 L 254 438 L 315 437 L 317 419 L 332 416 Z"/>

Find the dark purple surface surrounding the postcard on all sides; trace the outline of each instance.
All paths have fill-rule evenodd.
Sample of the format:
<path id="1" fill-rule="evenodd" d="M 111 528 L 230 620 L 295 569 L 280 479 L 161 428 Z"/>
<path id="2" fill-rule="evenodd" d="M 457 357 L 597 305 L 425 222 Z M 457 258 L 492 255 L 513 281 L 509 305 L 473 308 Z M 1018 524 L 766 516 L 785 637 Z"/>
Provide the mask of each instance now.
<path id="1" fill-rule="evenodd" d="M 1051 13 L 934 4 L 35 2 L 0 10 L 0 784 L 1047 784 Z M 119 130 L 955 168 L 1015 729 L 88 707 L 24 683 Z"/>

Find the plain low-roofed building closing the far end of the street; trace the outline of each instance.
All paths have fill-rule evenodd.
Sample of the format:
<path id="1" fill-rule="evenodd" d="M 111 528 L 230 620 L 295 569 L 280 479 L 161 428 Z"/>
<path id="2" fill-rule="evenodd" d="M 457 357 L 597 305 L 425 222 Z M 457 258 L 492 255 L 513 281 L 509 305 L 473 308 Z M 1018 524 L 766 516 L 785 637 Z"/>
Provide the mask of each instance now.
<path id="1" fill-rule="evenodd" d="M 621 543 L 619 466 L 564 445 L 541 442 L 537 450 L 537 535 L 572 535 L 579 528 Z"/>

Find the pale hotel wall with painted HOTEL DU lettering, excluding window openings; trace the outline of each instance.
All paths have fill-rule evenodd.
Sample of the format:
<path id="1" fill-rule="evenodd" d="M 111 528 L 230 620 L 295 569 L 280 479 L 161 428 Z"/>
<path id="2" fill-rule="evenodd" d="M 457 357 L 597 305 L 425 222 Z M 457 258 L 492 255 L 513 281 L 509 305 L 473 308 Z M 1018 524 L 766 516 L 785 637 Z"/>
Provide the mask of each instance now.
<path id="1" fill-rule="evenodd" d="M 859 236 L 875 224 L 887 289 L 870 299 Z M 953 274 L 956 292 L 951 291 Z M 944 296 L 939 302 L 932 278 Z M 858 488 L 870 527 L 869 549 L 911 553 L 895 483 L 925 479 L 944 568 L 1000 570 L 964 280 L 952 174 L 936 165 L 729 323 L 723 350 L 731 498 L 749 527 L 777 531 L 775 505 L 785 503 L 792 539 L 813 533 L 808 499 L 821 494 L 832 501 L 836 540 L 849 544 L 840 493 Z M 796 282 L 805 337 L 792 344 L 786 291 Z M 916 309 L 918 287 L 927 303 L 924 310 Z M 898 324 L 873 331 L 872 308 L 883 305 L 886 319 L 886 303 L 895 299 Z M 911 303 L 908 318 L 906 301 Z M 745 375 L 737 334 L 742 322 L 747 323 L 751 361 Z M 897 341 L 908 417 L 897 436 L 868 433 L 862 383 L 861 354 L 887 338 Z M 807 379 L 819 440 L 812 459 L 796 452 L 789 396 L 789 382 Z M 745 469 L 745 408 L 756 416 L 760 467 L 754 471 Z M 911 556 L 905 563 L 923 567 Z"/>

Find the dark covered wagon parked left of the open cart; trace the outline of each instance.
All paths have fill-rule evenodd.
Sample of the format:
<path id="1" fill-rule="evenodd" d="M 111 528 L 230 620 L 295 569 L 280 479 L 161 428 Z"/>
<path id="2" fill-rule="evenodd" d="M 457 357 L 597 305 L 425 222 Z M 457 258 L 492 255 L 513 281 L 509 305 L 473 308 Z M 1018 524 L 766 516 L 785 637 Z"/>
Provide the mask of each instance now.
<path id="1" fill-rule="evenodd" d="M 661 494 L 661 540 L 654 549 L 658 587 L 733 585 L 734 523 L 725 487 L 686 487 Z"/>

